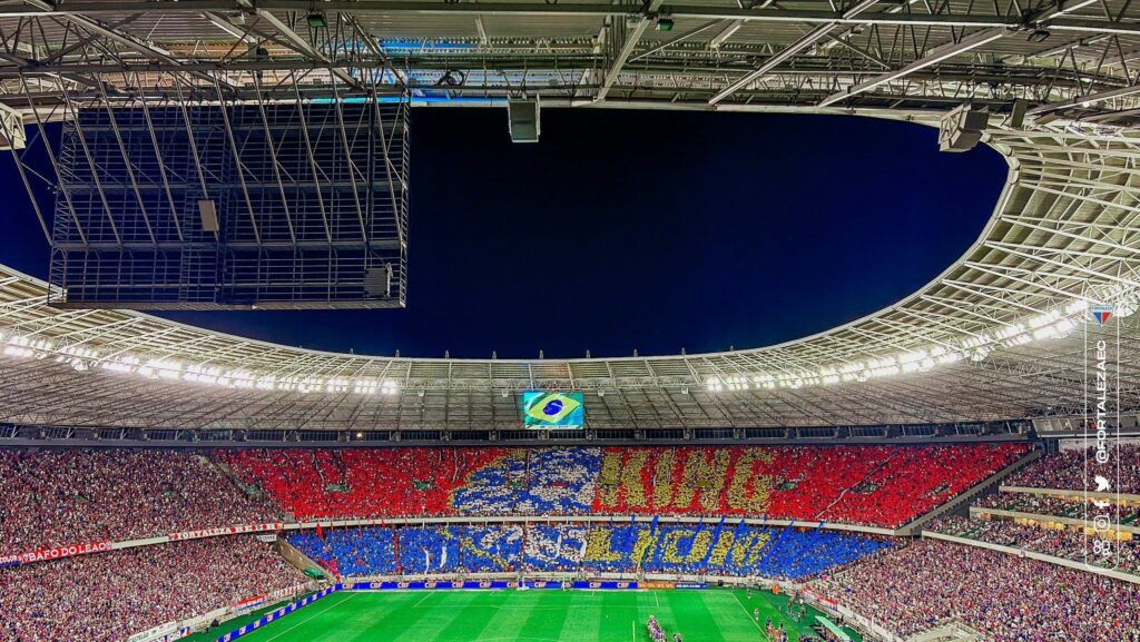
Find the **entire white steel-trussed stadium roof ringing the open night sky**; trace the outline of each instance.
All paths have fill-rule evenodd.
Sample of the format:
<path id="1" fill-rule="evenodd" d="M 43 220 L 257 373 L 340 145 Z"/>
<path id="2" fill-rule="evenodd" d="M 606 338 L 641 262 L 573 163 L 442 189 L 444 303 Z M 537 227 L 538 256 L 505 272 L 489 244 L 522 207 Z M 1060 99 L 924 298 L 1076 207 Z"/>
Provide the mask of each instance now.
<path id="1" fill-rule="evenodd" d="M 0 101 L 351 99 L 990 113 L 1010 163 L 979 239 L 914 295 L 806 339 L 670 357 L 399 359 L 58 310 L 0 276 L 0 420 L 142 428 L 518 428 L 514 392 L 587 392 L 591 428 L 852 425 L 1078 413 L 1085 330 L 1137 399 L 1140 10 L 1131 2 L 0 2 Z M 316 7 L 316 9 L 314 9 Z M 311 18 L 311 19 L 310 19 Z M 1010 113 L 1026 99 L 1024 124 Z M 841 168 L 832 168 L 841 171 Z M 821 163 L 820 181 L 829 170 Z M 952 198 L 946 185 L 931 197 Z M 809 295 L 809 293 L 805 293 Z M 1089 306 L 1117 323 L 1086 323 Z M 774 311 L 773 314 L 783 314 Z"/>

